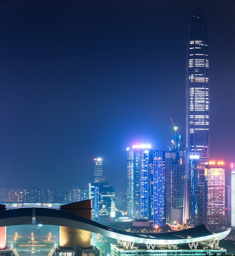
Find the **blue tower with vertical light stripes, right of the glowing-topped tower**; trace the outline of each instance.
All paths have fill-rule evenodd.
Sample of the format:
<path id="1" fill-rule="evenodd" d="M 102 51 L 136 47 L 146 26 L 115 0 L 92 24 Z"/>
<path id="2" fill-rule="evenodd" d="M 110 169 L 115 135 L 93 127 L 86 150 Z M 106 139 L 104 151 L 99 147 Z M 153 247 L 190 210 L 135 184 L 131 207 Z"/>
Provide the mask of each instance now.
<path id="1" fill-rule="evenodd" d="M 166 224 L 165 216 L 165 151 L 149 152 L 149 217 L 153 227 Z"/>

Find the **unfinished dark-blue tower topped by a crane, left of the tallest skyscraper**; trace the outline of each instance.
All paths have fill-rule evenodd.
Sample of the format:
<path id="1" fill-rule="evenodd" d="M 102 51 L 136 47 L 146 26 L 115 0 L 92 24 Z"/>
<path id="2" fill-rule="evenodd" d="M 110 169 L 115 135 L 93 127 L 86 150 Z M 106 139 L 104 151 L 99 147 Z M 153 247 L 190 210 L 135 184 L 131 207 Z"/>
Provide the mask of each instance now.
<path id="1" fill-rule="evenodd" d="M 171 224 L 182 224 L 183 220 L 186 152 L 182 140 L 177 131 L 165 151 L 166 223 Z"/>

